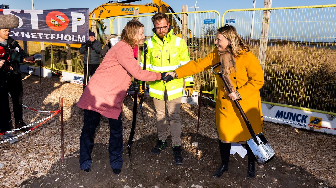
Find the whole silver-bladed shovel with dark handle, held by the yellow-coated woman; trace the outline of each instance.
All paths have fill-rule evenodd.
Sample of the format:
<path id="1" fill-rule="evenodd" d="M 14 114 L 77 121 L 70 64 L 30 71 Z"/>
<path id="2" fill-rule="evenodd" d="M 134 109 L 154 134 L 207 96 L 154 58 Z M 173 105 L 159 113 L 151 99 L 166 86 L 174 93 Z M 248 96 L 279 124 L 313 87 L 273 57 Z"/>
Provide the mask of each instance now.
<path id="1" fill-rule="evenodd" d="M 228 81 L 231 80 L 226 80 L 224 78 L 224 75 L 222 72 L 215 72 L 213 69 L 215 69 L 216 67 L 220 66 L 220 62 L 215 64 L 214 66 L 211 67 L 211 70 L 213 73 L 219 75 L 220 78 L 222 78 L 224 86 L 226 88 L 226 91 L 228 93 L 232 93 L 232 89 L 230 88 Z M 238 100 L 234 100 L 235 105 L 237 106 L 240 114 L 242 115 L 245 124 L 252 136 L 251 139 L 249 139 L 247 141 L 247 144 L 250 146 L 253 154 L 255 155 L 257 161 L 259 164 L 264 164 L 266 161 L 268 161 L 269 159 L 271 159 L 275 152 L 272 149 L 272 147 L 270 146 L 270 144 L 268 143 L 268 141 L 266 140 L 264 134 L 261 132 L 257 135 L 254 134 L 254 131 L 252 129 L 252 126 L 250 124 L 250 121 L 247 119 L 247 116 L 245 114 L 245 112 L 243 111 L 242 107 L 240 106 Z"/>

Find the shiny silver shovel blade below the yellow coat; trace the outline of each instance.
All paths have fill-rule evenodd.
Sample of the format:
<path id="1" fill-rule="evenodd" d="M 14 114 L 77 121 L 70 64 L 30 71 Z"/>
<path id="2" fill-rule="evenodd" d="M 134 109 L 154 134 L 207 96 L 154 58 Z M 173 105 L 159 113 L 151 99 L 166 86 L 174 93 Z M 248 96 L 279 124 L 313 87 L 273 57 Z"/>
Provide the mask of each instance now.
<path id="1" fill-rule="evenodd" d="M 272 156 L 274 156 L 274 150 L 269 145 L 263 133 L 256 135 L 259 145 L 251 138 L 247 141 L 253 154 L 255 155 L 259 165 L 265 164 Z"/>

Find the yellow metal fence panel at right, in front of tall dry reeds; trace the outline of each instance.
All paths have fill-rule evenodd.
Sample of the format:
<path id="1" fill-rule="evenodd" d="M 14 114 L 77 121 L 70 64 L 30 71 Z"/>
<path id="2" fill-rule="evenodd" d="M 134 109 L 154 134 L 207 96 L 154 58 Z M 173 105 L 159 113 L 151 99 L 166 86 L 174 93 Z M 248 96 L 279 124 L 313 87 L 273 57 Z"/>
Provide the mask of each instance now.
<path id="1" fill-rule="evenodd" d="M 336 113 L 336 5 L 228 10 L 258 58 L 264 10 L 270 10 L 263 101 Z M 253 30 L 252 15 L 255 13 Z"/>

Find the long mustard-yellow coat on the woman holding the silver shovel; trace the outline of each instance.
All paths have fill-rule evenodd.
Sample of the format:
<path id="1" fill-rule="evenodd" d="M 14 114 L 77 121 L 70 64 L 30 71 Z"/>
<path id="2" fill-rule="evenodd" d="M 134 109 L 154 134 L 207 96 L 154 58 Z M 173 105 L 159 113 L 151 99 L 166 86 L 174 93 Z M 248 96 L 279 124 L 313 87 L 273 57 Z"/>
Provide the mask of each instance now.
<path id="1" fill-rule="evenodd" d="M 263 71 L 258 59 L 252 52 L 246 52 L 236 59 L 237 72 L 230 74 L 233 86 L 239 92 L 242 100 L 239 101 L 248 120 L 250 121 L 255 134 L 263 132 L 261 99 L 259 89 L 264 84 Z M 179 78 L 193 75 L 201 71 L 211 69 L 213 65 L 220 62 L 218 51 L 215 49 L 203 59 L 190 61 L 177 68 L 175 71 Z M 215 69 L 220 71 L 220 67 Z M 216 125 L 220 140 L 225 142 L 245 142 L 251 138 L 235 103 L 227 97 L 223 87 L 223 80 L 216 75 Z"/>

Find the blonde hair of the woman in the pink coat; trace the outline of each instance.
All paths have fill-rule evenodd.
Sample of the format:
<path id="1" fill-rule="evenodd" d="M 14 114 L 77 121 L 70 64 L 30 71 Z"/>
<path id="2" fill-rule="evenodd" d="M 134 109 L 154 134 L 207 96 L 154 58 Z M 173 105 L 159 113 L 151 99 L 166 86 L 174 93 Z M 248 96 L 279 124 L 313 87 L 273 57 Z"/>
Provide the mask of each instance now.
<path id="1" fill-rule="evenodd" d="M 140 27 L 143 27 L 143 24 L 138 19 L 134 18 L 129 20 L 121 32 L 121 40 L 124 40 L 127 44 L 134 48 L 136 46 L 135 42 L 137 41 L 134 36 L 138 33 Z"/>

